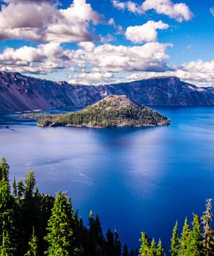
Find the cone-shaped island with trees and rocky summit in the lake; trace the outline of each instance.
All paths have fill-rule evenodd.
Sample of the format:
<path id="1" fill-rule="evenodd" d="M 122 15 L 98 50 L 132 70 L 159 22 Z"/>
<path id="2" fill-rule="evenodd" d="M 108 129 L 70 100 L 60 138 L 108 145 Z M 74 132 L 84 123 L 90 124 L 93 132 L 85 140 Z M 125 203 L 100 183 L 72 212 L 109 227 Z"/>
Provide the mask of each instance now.
<path id="1" fill-rule="evenodd" d="M 130 100 L 112 95 L 77 112 L 68 114 L 24 114 L 38 119 L 38 126 L 76 126 L 89 128 L 168 126 L 167 116 Z"/>

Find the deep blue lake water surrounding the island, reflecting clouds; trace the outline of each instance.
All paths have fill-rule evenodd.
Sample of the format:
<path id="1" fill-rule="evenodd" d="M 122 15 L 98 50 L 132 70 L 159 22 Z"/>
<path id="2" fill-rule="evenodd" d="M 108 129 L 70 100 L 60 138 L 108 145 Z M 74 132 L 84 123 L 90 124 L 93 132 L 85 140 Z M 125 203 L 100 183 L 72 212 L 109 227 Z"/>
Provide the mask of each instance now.
<path id="1" fill-rule="evenodd" d="M 170 126 L 38 128 L 0 115 L 0 156 L 11 177 L 33 168 L 41 192 L 68 190 L 85 221 L 92 209 L 130 247 L 144 231 L 167 248 L 175 221 L 181 228 L 214 199 L 214 107 L 156 109 Z"/>

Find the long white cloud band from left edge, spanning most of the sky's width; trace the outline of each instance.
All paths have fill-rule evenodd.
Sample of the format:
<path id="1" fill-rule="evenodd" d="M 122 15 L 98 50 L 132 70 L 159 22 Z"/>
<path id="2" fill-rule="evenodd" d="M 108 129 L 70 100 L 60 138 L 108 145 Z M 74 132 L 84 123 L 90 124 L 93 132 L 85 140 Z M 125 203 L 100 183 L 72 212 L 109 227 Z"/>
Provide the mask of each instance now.
<path id="1" fill-rule="evenodd" d="M 100 82 L 102 79 L 112 81 L 110 73 L 169 70 L 169 44 L 146 43 L 126 47 L 110 44 L 95 46 L 91 42 L 82 42 L 78 46 L 78 50 L 65 50 L 59 43 L 24 46 L 17 50 L 8 47 L 0 54 L 0 70 L 45 74 L 64 69 L 75 71 L 75 78 L 86 80 L 88 77 L 91 82 L 98 79 Z M 82 75 L 84 73 L 86 75 Z"/>

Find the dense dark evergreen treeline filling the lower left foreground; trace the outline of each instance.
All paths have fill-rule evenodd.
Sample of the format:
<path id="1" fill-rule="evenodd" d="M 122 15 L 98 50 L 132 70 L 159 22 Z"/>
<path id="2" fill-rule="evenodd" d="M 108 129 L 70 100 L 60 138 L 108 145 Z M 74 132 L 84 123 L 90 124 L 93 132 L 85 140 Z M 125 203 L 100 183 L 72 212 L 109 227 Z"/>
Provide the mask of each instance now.
<path id="1" fill-rule="evenodd" d="M 100 218 L 89 213 L 85 226 L 65 192 L 40 194 L 33 170 L 9 184 L 9 165 L 0 164 L 0 256 L 135 256 L 116 230 L 102 233 Z M 12 190 L 12 191 L 11 191 Z"/>

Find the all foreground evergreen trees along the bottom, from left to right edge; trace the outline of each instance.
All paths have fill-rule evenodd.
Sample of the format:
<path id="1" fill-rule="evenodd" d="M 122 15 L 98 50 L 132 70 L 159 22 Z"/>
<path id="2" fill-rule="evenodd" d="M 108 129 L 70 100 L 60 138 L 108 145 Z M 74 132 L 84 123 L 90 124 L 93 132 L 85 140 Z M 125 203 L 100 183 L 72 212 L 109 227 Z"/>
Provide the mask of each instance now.
<path id="1" fill-rule="evenodd" d="M 122 246 L 116 230 L 102 232 L 98 216 L 89 213 L 84 225 L 65 192 L 40 194 L 33 170 L 25 181 L 9 183 L 9 165 L 5 158 L 0 164 L 0 255 L 1 256 L 164 256 L 159 240 L 149 239 L 142 232 L 139 250 Z M 35 189 L 36 188 L 36 189 Z M 214 255 L 214 232 L 211 199 L 206 200 L 206 211 L 199 218 L 193 213 L 192 225 L 185 218 L 183 231 L 178 234 L 178 222 L 171 237 L 171 256 Z"/>

